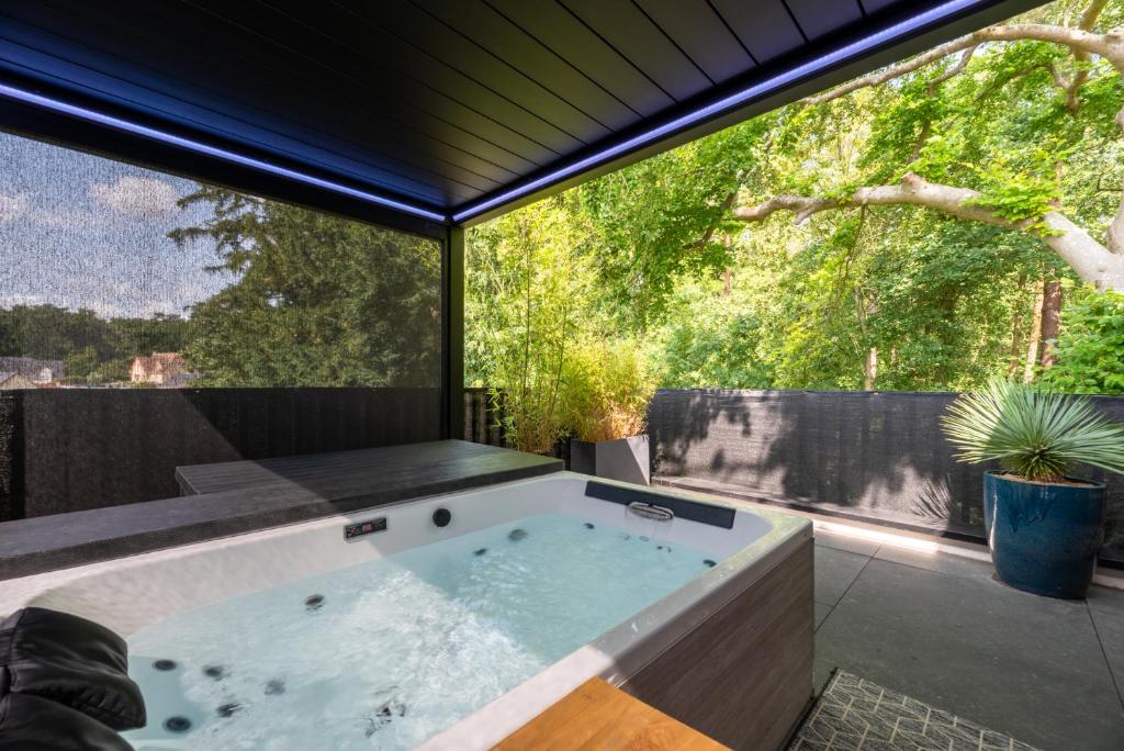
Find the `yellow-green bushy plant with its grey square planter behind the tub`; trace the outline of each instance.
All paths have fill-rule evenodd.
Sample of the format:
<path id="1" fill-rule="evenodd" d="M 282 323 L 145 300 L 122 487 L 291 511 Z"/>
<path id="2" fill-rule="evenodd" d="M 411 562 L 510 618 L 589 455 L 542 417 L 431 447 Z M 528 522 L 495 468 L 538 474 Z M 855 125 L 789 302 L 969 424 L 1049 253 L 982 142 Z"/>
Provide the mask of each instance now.
<path id="1" fill-rule="evenodd" d="M 655 391 L 635 343 L 587 343 L 566 374 L 570 469 L 649 485 L 647 402 Z"/>

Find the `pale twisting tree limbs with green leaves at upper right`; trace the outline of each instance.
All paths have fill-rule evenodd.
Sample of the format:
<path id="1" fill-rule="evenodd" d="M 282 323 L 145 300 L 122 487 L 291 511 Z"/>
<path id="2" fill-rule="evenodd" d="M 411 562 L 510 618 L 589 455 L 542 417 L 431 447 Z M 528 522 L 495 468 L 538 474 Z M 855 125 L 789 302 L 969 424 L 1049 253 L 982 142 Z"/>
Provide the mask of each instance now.
<path id="1" fill-rule="evenodd" d="M 878 179 L 897 172 L 900 178 L 888 184 L 821 186 L 816 193 L 774 194 L 740 206 L 732 216 L 754 223 L 790 211 L 799 223 L 828 210 L 921 207 L 1028 233 L 1041 238 L 1082 280 L 1100 289 L 1124 290 L 1124 189 L 1117 191 L 1115 214 L 1104 233 L 1095 233 L 1088 226 L 1091 223 L 1075 220 L 1058 208 L 1060 186 L 1057 175 L 1049 173 L 1057 172 L 1058 164 L 1076 150 L 1105 139 L 1106 96 L 1117 99 L 1112 119 L 1124 129 L 1124 108 L 1118 100 L 1124 26 L 1094 30 L 1107 4 L 1107 0 L 1094 0 L 1072 26 L 1016 22 L 988 27 L 806 99 L 807 108 L 831 108 L 849 94 L 878 89 L 876 96 L 886 102 L 888 115 L 878 123 L 881 132 L 871 138 L 872 148 L 881 153 L 868 154 L 871 169 L 865 177 Z M 1120 20 L 1118 10 L 1114 8 L 1112 20 Z M 980 57 L 987 60 L 979 63 Z M 1053 143 L 1035 138 L 1013 147 L 1010 139 L 1003 137 L 1009 130 L 996 133 L 996 103 L 1012 103 L 1003 92 L 1012 90 L 1010 84 L 1019 79 L 1058 92 L 1055 109 L 1075 119 L 1086 109 L 1087 100 L 1094 100 L 1090 109 L 1099 111 Z M 969 82 L 949 87 L 953 80 Z M 950 88 L 954 89 L 951 94 Z M 1057 115 L 1036 116 L 1055 119 Z M 1026 125 L 1024 120 L 1012 127 Z M 987 159 L 985 164 L 969 161 L 980 155 Z"/>

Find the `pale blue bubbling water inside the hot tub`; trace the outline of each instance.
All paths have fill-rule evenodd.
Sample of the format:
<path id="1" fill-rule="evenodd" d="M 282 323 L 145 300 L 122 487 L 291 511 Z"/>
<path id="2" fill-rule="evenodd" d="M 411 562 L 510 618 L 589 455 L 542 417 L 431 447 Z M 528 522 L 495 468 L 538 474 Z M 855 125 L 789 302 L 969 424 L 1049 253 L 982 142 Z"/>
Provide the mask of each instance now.
<path id="1" fill-rule="evenodd" d="M 410 749 L 708 568 L 709 554 L 532 516 L 135 633 L 156 749 Z"/>

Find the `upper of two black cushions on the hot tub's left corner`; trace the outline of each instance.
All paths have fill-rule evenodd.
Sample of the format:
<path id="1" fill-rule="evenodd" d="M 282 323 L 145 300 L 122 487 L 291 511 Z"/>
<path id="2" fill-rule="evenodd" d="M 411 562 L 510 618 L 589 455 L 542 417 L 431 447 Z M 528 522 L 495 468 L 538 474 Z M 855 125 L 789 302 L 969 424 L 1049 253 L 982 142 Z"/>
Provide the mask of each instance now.
<path id="1" fill-rule="evenodd" d="M 0 666 L 12 695 L 56 702 L 114 730 L 145 724 L 127 655 L 124 639 L 76 615 L 29 607 L 0 623 Z"/>

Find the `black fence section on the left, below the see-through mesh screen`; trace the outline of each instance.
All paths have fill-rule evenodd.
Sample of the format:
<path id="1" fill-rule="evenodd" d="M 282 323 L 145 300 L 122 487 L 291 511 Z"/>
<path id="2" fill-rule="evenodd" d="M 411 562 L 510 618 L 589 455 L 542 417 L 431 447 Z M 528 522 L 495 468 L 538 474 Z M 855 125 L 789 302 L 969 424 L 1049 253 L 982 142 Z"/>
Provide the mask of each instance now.
<path id="1" fill-rule="evenodd" d="M 183 464 L 435 441 L 439 426 L 438 389 L 11 391 L 0 519 L 174 497 Z"/>

